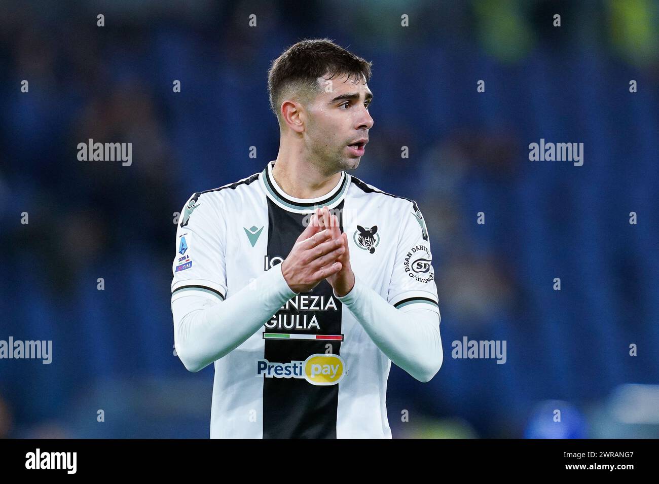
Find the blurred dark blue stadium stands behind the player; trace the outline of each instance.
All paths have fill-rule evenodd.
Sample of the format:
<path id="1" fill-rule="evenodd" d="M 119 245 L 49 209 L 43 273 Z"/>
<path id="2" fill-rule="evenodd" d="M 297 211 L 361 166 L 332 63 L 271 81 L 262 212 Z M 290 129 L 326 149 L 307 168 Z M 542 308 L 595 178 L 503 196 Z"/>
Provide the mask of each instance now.
<path id="1" fill-rule="evenodd" d="M 355 175 L 414 198 L 434 254 L 444 365 L 392 367 L 394 437 L 659 437 L 658 26 L 649 0 L 4 0 L 0 339 L 53 362 L 0 360 L 0 436 L 208 437 L 214 370 L 173 354 L 173 213 L 275 159 L 270 61 L 328 37 L 374 63 Z M 88 138 L 132 165 L 78 161 Z M 584 165 L 529 161 L 540 138 Z M 451 358 L 463 336 L 507 362 Z"/>

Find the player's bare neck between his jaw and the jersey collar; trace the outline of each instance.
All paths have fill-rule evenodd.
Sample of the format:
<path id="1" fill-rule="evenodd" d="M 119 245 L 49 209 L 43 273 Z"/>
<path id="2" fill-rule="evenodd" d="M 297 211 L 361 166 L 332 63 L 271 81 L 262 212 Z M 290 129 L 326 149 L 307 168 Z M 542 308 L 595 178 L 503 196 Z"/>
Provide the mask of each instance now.
<path id="1" fill-rule="evenodd" d="M 328 172 L 303 157 L 302 153 L 290 153 L 279 146 L 272 176 L 281 189 L 293 198 L 318 198 L 339 183 L 341 172 Z"/>

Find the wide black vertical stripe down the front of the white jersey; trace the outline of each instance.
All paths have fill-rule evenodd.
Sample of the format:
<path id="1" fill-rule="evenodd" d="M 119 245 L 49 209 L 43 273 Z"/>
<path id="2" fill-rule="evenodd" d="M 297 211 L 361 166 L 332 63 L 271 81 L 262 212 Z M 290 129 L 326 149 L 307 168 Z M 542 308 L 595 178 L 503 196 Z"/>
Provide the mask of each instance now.
<path id="1" fill-rule="evenodd" d="M 279 207 L 270 198 L 268 200 L 268 253 L 272 257 L 286 257 L 291 252 L 295 241 L 304 230 L 302 220 L 308 215 L 293 213 Z M 337 208 L 343 214 L 343 200 Z M 343 232 L 343 217 L 339 217 L 339 229 Z M 341 301 L 333 297 L 329 282 L 321 281 L 313 290 L 303 294 L 324 296 L 325 300 L 333 298 L 336 311 L 304 310 L 295 307 L 279 309 L 273 316 L 287 317 L 287 322 L 299 317 L 300 325 L 307 325 L 316 317 L 318 328 L 298 329 L 294 325 L 286 329 L 283 325 L 266 327 L 268 333 L 305 333 L 314 335 L 341 335 Z M 320 299 L 319 299 L 320 300 Z M 326 353 L 326 345 L 331 344 L 332 354 L 339 355 L 340 341 L 323 340 L 288 340 L 266 339 L 264 358 L 271 363 L 288 363 L 304 361 L 312 354 Z M 256 362 L 254 362 L 256 365 Z M 256 368 L 255 368 L 256 369 Z M 346 371 L 346 369 L 344 369 Z M 300 378 L 263 377 L 263 437 L 264 439 L 335 439 L 337 406 L 339 402 L 339 385 L 312 385 Z"/>

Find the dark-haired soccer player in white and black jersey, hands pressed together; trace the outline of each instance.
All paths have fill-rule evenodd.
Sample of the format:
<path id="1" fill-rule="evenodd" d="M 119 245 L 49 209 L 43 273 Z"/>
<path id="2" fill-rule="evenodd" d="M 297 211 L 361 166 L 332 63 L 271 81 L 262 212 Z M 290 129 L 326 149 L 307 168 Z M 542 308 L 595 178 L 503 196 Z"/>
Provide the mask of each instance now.
<path id="1" fill-rule="evenodd" d="M 289 47 L 268 72 L 277 159 L 183 207 L 174 342 L 189 371 L 215 365 L 212 438 L 391 438 L 391 362 L 422 382 L 442 365 L 424 218 L 347 173 L 370 65 L 327 39 Z"/>

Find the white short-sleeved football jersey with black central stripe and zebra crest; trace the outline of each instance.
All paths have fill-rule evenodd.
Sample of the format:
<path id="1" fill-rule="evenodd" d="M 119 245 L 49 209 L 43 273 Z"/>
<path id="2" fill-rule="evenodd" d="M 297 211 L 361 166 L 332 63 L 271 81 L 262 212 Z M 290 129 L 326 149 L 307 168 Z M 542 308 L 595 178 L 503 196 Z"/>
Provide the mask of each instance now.
<path id="1" fill-rule="evenodd" d="M 186 294 L 231 298 L 281 263 L 310 214 L 327 206 L 365 284 L 401 311 L 439 315 L 428 230 L 413 200 L 346 172 L 322 197 L 293 198 L 275 182 L 274 163 L 188 200 L 177 226 L 172 302 Z M 211 437 L 390 438 L 390 367 L 321 281 L 215 361 Z"/>

